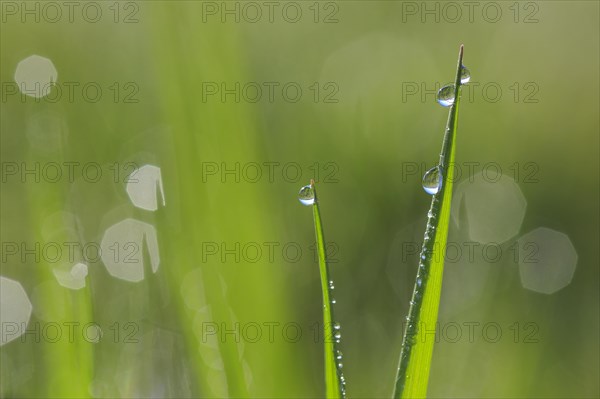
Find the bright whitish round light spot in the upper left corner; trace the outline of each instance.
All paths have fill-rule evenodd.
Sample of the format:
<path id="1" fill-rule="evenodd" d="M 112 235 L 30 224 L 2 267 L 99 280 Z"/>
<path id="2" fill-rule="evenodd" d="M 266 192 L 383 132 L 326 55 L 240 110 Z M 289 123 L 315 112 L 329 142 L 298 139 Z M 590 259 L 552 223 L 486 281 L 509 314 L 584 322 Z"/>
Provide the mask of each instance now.
<path id="1" fill-rule="evenodd" d="M 30 55 L 17 64 L 15 82 L 21 93 L 35 98 L 47 96 L 58 79 L 52 61 L 39 55 Z"/>

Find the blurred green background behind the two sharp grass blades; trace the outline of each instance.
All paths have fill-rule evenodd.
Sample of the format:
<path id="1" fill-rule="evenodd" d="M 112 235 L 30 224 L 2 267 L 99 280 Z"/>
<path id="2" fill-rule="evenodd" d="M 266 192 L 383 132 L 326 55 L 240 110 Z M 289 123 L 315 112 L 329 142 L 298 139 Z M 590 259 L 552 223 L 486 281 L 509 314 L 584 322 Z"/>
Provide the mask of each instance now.
<path id="1" fill-rule="evenodd" d="M 429 395 L 600 395 L 597 2 L 74 3 L 57 17 L 2 2 L 0 275 L 33 307 L 28 333 L 0 347 L 2 397 L 321 397 L 314 228 L 297 200 L 311 178 L 348 395 L 389 397 L 430 203 L 420 179 L 447 118 L 433 93 L 460 44 L 472 79 L 449 241 L 462 253 L 445 270 Z M 51 60 L 60 93 L 16 90 L 31 55 Z M 50 181 L 52 162 L 102 176 Z M 130 163 L 160 168 L 165 206 L 134 206 Z M 36 167 L 39 181 L 21 174 Z M 145 244 L 141 281 L 97 256 L 21 256 L 99 245 L 128 218 L 156 232 L 160 265 Z M 538 228 L 561 234 L 527 235 Z M 85 287 L 59 284 L 54 270 L 77 262 Z M 4 335 L 18 306 L 2 300 Z M 99 340 L 82 335 L 90 322 Z M 72 339 L 65 323 L 79 323 Z"/>

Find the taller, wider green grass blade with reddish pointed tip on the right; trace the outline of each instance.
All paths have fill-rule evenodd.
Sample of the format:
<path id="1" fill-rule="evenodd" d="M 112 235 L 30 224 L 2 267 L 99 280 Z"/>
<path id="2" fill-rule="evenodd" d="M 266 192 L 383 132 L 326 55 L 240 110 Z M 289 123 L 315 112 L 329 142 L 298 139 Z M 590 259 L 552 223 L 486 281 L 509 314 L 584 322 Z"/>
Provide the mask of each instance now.
<path id="1" fill-rule="evenodd" d="M 442 186 L 433 195 L 419 269 L 406 320 L 394 398 L 423 398 L 427 394 L 429 370 L 435 342 L 438 308 L 444 272 L 444 249 L 448 238 L 454 169 L 455 138 L 460 103 L 463 46 L 460 46 L 454 103 L 449 114 L 440 154 Z"/>

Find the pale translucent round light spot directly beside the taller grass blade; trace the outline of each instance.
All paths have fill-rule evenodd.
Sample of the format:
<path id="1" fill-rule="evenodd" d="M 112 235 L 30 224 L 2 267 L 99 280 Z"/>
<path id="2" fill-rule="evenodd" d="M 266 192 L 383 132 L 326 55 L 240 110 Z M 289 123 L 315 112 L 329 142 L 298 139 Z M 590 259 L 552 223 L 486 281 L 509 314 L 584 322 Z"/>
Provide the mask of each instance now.
<path id="1" fill-rule="evenodd" d="M 502 244 L 516 236 L 523 223 L 527 200 L 509 176 L 493 179 L 483 172 L 462 181 L 452 200 L 452 219 L 479 243 Z"/>

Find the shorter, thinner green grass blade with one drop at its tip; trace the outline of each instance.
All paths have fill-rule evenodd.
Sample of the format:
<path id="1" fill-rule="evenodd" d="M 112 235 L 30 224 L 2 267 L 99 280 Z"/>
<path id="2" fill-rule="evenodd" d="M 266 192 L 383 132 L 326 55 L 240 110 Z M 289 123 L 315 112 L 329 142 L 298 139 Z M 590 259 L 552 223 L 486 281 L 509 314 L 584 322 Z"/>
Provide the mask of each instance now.
<path id="1" fill-rule="evenodd" d="M 319 255 L 319 273 L 321 275 L 321 291 L 323 293 L 323 332 L 324 332 L 324 355 L 325 355 L 325 396 L 327 398 L 345 398 L 345 381 L 342 370 L 338 367 L 341 357 L 337 348 L 339 343 L 339 325 L 335 323 L 333 315 L 333 284 L 329 277 L 329 265 L 327 264 L 327 253 L 325 251 L 325 237 L 323 235 L 323 224 L 319 211 L 319 201 L 314 180 L 310 181 L 313 190 L 313 217 L 315 221 L 315 236 L 317 241 L 317 253 Z"/>

